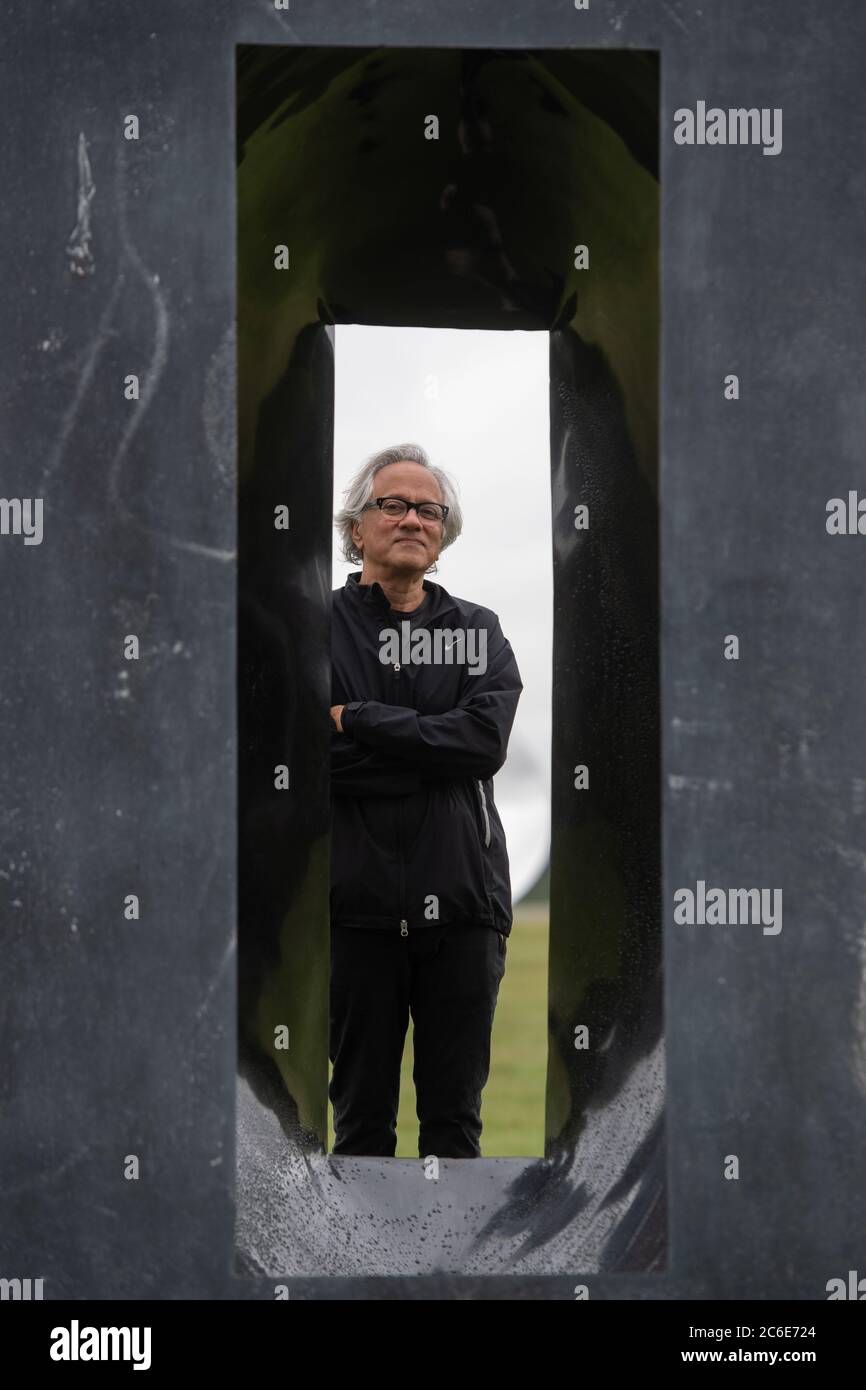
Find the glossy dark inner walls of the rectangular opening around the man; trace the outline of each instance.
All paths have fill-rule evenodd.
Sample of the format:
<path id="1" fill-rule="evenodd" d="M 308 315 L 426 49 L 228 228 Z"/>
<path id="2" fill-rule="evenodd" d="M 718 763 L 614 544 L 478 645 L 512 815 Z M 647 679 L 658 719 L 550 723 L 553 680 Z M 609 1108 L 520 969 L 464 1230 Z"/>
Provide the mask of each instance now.
<path id="1" fill-rule="evenodd" d="M 589 104 L 599 79 L 607 113 L 619 113 L 621 89 L 613 128 Z M 406 93 L 421 82 L 427 110 L 442 113 L 442 138 L 425 150 L 423 172 L 413 167 L 407 178 L 414 107 Z M 345 1273 L 348 1245 L 357 1273 L 660 1268 L 657 181 L 619 129 L 639 143 L 648 125 L 657 128 L 657 58 L 570 53 L 555 54 L 548 68 L 545 54 L 485 50 L 242 49 L 238 104 L 239 418 L 247 421 L 239 491 L 240 1268 Z M 304 138 L 318 128 L 329 132 L 327 150 Z M 567 174 L 550 185 L 549 168 Z M 375 210 L 402 179 L 400 217 L 382 224 Z M 336 227 L 304 225 L 297 208 L 314 218 L 336 190 L 357 214 Z M 295 270 L 281 277 L 263 247 L 286 235 L 289 210 Z M 575 228 L 589 245 L 588 272 L 569 270 L 569 250 L 553 250 L 570 247 Z M 328 322 L 553 331 L 545 1158 L 481 1159 L 482 1172 L 443 1163 L 438 1183 L 417 1163 L 314 1162 L 316 1154 L 324 1159 L 328 1061 L 320 771 L 334 366 L 331 335 L 309 321 L 313 313 Z M 286 366 L 270 382 L 277 363 Z M 585 535 L 574 528 L 582 500 L 592 503 Z M 293 523 L 288 535 L 274 531 L 281 502 Z M 302 682 L 292 680 L 297 671 Z M 592 769 L 588 792 L 573 787 L 581 751 Z M 279 763 L 291 764 L 289 794 L 272 790 Z M 274 1048 L 278 1022 L 291 1029 L 289 1049 Z M 588 1051 L 575 1051 L 578 1024 L 589 1027 Z M 272 1115 L 257 1113 L 256 1102 Z"/>

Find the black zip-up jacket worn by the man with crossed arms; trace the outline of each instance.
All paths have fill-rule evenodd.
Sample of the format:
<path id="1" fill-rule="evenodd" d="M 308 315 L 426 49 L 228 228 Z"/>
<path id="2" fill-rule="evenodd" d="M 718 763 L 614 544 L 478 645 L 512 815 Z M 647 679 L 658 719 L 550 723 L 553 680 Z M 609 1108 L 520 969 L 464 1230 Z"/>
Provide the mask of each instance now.
<path id="1" fill-rule="evenodd" d="M 523 689 L 512 646 L 492 609 L 432 580 L 406 614 L 360 575 L 332 591 L 331 703 L 345 709 L 343 733 L 331 726 L 331 923 L 406 935 L 460 922 L 507 937 L 512 884 L 493 773 Z M 436 660 L 406 662 L 381 637 L 389 628 L 407 638 L 403 621 L 435 644 L 474 630 L 477 645 L 456 638 L 450 657 L 439 646 Z M 487 669 L 471 674 L 481 631 Z"/>

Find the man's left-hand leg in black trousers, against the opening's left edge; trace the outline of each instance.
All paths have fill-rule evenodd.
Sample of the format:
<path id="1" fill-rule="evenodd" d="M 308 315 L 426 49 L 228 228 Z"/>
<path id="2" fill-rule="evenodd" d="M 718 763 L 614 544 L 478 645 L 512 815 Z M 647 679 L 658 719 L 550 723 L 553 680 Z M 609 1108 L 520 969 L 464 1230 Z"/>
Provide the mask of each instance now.
<path id="1" fill-rule="evenodd" d="M 409 958 L 399 931 L 331 929 L 334 1152 L 393 1158 L 409 1024 Z"/>

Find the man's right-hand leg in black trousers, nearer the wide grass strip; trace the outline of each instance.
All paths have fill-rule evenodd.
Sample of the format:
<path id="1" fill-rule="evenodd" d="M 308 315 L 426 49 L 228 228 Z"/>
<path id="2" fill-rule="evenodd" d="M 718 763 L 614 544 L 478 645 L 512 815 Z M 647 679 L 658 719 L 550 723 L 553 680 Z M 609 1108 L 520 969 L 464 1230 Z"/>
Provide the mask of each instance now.
<path id="1" fill-rule="evenodd" d="M 418 1155 L 480 1158 L 481 1091 L 506 940 L 492 927 L 449 923 L 417 931 L 413 947 Z"/>

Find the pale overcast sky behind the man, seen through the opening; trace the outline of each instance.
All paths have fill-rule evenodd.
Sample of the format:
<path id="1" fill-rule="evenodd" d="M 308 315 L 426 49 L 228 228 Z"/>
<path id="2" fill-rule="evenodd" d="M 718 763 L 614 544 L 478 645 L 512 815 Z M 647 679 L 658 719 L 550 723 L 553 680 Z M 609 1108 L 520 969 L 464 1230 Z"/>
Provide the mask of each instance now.
<path id="1" fill-rule="evenodd" d="M 544 332 L 338 324 L 334 509 L 371 453 L 420 443 L 457 485 L 463 534 L 427 575 L 499 614 L 523 695 L 495 778 L 514 902 L 550 849 L 549 338 Z M 338 555 L 334 587 L 357 564 Z"/>

